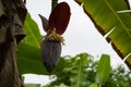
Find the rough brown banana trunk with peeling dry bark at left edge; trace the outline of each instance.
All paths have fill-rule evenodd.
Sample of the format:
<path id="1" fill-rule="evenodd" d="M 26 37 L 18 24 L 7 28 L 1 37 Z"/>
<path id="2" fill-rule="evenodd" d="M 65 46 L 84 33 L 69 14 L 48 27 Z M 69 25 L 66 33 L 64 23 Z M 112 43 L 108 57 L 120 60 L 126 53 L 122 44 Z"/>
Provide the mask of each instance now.
<path id="1" fill-rule="evenodd" d="M 16 65 L 16 45 L 25 36 L 22 0 L 0 0 L 0 87 L 23 87 Z"/>

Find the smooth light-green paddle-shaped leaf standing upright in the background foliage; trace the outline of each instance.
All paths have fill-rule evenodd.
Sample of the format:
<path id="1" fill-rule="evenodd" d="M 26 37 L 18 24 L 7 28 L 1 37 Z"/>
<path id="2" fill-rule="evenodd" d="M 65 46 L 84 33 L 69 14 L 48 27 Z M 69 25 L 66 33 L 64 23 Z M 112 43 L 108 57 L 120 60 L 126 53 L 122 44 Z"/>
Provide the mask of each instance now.
<path id="1" fill-rule="evenodd" d="M 98 61 L 98 67 L 96 71 L 96 83 L 103 85 L 107 82 L 109 74 L 111 72 L 110 58 L 107 54 L 103 54 Z"/>

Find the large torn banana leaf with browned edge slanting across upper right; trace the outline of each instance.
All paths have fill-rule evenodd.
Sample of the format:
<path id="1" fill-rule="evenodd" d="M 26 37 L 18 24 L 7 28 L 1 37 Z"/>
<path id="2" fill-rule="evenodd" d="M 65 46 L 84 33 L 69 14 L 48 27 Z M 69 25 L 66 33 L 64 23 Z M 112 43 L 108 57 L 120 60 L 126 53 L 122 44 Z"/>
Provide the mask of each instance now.
<path id="1" fill-rule="evenodd" d="M 130 10 L 128 0 L 75 0 L 83 3 L 85 13 L 94 22 L 102 35 L 108 35 L 116 52 L 124 59 L 131 54 L 131 14 L 119 11 Z M 126 60 L 131 69 L 131 55 Z"/>

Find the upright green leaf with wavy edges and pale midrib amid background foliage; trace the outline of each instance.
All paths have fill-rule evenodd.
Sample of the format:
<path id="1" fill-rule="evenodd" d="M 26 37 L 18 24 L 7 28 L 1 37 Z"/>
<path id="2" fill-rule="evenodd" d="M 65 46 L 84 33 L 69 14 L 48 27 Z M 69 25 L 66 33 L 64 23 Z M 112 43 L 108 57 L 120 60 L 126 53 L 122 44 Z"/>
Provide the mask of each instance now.
<path id="1" fill-rule="evenodd" d="M 86 53 L 81 53 L 78 54 L 74 59 L 73 59 L 73 67 L 71 70 L 71 86 L 72 87 L 84 87 L 86 85 L 86 76 L 87 73 L 86 71 L 86 64 L 87 64 L 87 59 L 88 59 L 88 54 Z"/>

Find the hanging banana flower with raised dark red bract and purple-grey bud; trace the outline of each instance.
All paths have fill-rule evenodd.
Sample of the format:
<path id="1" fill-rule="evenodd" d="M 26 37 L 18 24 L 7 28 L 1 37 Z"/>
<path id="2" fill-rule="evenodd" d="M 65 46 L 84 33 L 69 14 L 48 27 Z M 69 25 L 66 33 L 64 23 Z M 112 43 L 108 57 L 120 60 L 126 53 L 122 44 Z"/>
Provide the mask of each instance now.
<path id="1" fill-rule="evenodd" d="M 41 57 L 47 71 L 51 73 L 61 54 L 61 36 L 69 24 L 70 7 L 67 2 L 58 3 L 52 10 L 49 21 L 39 14 L 43 28 L 47 32 L 45 39 L 41 41 Z"/>

